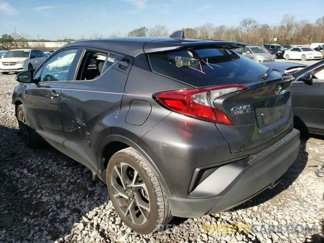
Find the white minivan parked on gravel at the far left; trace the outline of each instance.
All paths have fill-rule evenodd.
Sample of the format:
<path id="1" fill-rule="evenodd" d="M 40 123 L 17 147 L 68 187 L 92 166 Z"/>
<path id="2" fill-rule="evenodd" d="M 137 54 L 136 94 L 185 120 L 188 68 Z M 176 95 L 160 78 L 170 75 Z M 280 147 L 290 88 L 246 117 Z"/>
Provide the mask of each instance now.
<path id="1" fill-rule="evenodd" d="M 18 49 L 11 50 L 0 59 L 1 74 L 20 73 L 27 70 L 36 70 L 46 59 L 43 50 Z"/>

